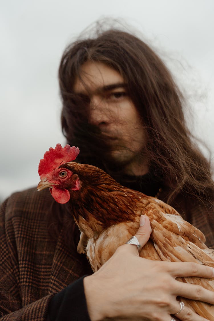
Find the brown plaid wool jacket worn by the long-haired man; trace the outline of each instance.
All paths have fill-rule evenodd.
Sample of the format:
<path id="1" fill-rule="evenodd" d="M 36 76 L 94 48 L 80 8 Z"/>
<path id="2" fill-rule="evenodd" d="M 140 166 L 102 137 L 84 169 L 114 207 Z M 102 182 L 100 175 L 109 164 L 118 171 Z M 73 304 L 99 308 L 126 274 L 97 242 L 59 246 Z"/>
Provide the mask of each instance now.
<path id="1" fill-rule="evenodd" d="M 88 264 L 67 249 L 63 231 L 53 240 L 47 212 L 54 199 L 36 188 L 13 194 L 0 212 L 0 320 L 44 321 L 53 293 L 86 274 Z M 213 208 L 177 200 L 174 204 L 214 245 Z M 190 208 L 190 209 L 188 209 Z M 54 210 L 54 207 L 53 207 Z M 203 214 L 203 215 L 202 215 Z"/>

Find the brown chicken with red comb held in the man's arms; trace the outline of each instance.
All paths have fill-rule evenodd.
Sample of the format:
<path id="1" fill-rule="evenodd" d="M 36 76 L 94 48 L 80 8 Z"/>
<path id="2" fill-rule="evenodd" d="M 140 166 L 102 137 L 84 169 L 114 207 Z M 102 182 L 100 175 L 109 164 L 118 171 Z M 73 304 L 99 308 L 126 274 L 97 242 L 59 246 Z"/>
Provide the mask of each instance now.
<path id="1" fill-rule="evenodd" d="M 76 147 L 60 144 L 50 148 L 39 163 L 38 190 L 49 187 L 61 204 L 70 202 L 81 236 L 78 252 L 86 253 L 97 271 L 139 228 L 140 215 L 147 215 L 151 236 L 140 256 L 150 260 L 196 262 L 214 267 L 213 251 L 203 233 L 193 227 L 171 206 L 157 198 L 121 186 L 103 170 L 73 162 Z M 214 291 L 214 279 L 179 278 Z M 182 298 L 200 316 L 214 321 L 214 306 Z"/>

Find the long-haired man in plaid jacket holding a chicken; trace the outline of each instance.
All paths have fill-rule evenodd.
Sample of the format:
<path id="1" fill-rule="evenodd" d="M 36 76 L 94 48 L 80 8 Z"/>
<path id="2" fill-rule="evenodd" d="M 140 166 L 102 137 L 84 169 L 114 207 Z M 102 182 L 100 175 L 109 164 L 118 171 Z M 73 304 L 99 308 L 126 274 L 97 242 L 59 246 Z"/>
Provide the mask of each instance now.
<path id="1" fill-rule="evenodd" d="M 159 193 L 213 246 L 210 167 L 191 143 L 180 93 L 158 56 L 140 39 L 108 30 L 65 50 L 59 81 L 62 127 L 68 143 L 80 148 L 78 161 L 145 194 Z M 213 292 L 175 280 L 213 277 L 213 269 L 142 259 L 128 244 L 79 279 L 91 271 L 76 253 L 77 230 L 48 191 L 15 194 L 1 213 L 2 320 L 170 321 L 176 314 L 203 321 L 180 308 L 176 297 L 214 304 Z M 148 218 L 141 216 L 140 225 L 136 236 L 143 245 L 150 237 Z"/>

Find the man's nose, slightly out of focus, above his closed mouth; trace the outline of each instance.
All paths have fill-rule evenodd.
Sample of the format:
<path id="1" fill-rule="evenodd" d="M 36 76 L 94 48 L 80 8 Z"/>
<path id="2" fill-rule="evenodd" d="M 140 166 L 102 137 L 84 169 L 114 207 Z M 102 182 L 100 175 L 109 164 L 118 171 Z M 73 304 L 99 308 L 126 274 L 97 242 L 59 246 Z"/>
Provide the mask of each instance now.
<path id="1" fill-rule="evenodd" d="M 106 126 L 109 123 L 109 111 L 102 97 L 91 97 L 89 121 L 90 124 L 99 127 Z"/>

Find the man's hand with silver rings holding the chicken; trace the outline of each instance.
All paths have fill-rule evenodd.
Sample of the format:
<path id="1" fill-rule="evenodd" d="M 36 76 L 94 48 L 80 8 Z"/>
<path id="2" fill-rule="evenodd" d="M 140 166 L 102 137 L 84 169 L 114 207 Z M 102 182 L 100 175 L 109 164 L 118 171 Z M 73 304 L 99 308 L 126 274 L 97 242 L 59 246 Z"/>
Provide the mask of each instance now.
<path id="1" fill-rule="evenodd" d="M 135 234 L 141 246 L 151 232 L 148 217 L 141 216 L 141 223 L 143 219 L 145 224 Z M 105 317 L 171 321 L 180 310 L 177 296 L 214 304 L 214 292 L 176 280 L 182 276 L 211 278 L 213 269 L 188 262 L 144 259 L 139 257 L 135 245 L 124 244 L 96 273 L 84 278 L 90 318 L 92 321 Z M 186 306 L 176 317 L 182 321 L 207 320 Z"/>

